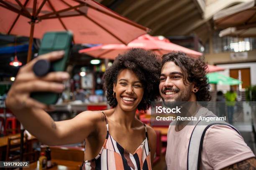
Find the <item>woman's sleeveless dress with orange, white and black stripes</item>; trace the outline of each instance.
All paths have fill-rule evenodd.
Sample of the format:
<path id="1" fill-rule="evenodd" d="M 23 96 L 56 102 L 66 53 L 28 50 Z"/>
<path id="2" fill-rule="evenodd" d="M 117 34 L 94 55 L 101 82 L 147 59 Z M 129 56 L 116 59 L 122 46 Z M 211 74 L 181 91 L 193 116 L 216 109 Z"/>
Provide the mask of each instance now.
<path id="1" fill-rule="evenodd" d="M 101 111 L 102 112 L 102 111 Z M 102 112 L 104 115 L 105 113 Z M 150 148 L 146 125 L 146 139 L 131 154 L 116 142 L 108 131 L 108 119 L 105 115 L 107 135 L 100 153 L 92 160 L 84 160 L 82 170 L 151 170 Z M 84 149 L 85 153 L 85 149 Z"/>

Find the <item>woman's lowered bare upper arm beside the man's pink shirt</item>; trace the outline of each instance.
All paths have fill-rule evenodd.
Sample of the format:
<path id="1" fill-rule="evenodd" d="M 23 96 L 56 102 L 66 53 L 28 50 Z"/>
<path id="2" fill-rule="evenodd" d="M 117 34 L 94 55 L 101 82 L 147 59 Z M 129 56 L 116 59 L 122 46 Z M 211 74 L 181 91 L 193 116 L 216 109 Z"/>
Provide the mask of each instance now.
<path id="1" fill-rule="evenodd" d="M 153 166 L 154 155 L 156 153 L 156 132 L 153 128 L 146 125 L 148 131 L 148 141 L 150 147 L 150 158 L 151 158 L 151 166 Z"/>

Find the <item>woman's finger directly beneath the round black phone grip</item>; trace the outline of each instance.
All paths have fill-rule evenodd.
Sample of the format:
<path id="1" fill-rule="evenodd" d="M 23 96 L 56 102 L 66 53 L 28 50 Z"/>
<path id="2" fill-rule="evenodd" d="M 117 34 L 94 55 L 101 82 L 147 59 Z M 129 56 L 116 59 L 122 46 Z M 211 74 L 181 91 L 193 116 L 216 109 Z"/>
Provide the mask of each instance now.
<path id="1" fill-rule="evenodd" d="M 24 72 L 16 77 L 16 81 L 27 82 L 31 80 L 44 80 L 62 82 L 69 79 L 67 72 L 49 72 L 44 77 L 37 77 L 33 72 Z"/>

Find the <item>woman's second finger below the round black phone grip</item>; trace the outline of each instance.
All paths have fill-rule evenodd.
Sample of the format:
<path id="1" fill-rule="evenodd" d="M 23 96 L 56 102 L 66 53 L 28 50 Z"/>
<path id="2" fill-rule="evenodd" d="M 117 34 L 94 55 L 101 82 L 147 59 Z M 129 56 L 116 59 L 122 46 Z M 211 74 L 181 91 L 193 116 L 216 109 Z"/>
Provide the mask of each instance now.
<path id="1" fill-rule="evenodd" d="M 20 93 L 27 92 L 57 92 L 60 93 L 64 90 L 64 85 L 57 82 L 46 82 L 42 80 L 34 80 L 29 82 L 20 83 L 15 86 L 15 91 Z"/>

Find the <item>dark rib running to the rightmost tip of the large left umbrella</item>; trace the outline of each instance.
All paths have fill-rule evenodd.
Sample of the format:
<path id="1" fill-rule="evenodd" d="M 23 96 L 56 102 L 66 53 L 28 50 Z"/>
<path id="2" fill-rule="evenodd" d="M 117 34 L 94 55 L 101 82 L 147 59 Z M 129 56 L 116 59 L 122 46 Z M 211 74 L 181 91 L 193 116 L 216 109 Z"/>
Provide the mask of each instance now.
<path id="1" fill-rule="evenodd" d="M 80 2 L 79 0 L 73 0 L 73 1 Z M 86 3 L 86 2 L 85 2 L 85 3 Z M 101 5 L 101 4 L 99 4 L 99 5 Z M 123 22 L 125 22 L 125 23 L 128 23 L 128 24 L 131 24 L 131 25 L 133 25 L 133 26 L 135 26 L 135 27 L 137 27 L 137 28 L 140 28 L 140 29 L 142 29 L 142 30 L 146 30 L 147 32 L 150 31 L 150 29 L 148 29 L 148 28 L 146 28 L 146 27 L 143 27 L 142 25 L 139 25 L 139 24 L 137 24 L 137 23 L 134 23 L 133 21 L 128 20 L 127 18 L 124 19 L 124 17 L 122 17 L 122 16 L 121 16 L 121 17 L 117 17 L 116 15 L 107 13 L 107 12 L 105 12 L 105 11 L 103 11 L 103 10 L 100 10 L 99 8 L 94 7 L 94 6 L 92 6 L 92 5 L 90 5 L 90 4 L 87 4 L 87 3 L 86 3 L 86 6 L 92 8 L 92 9 L 94 9 L 94 10 L 100 11 L 101 13 L 104 13 L 105 15 L 111 16 L 111 17 L 113 17 L 113 18 L 115 18 L 115 19 L 121 20 L 121 21 L 123 21 Z M 102 7 L 105 7 L 105 6 L 103 6 L 103 5 L 101 5 L 101 6 L 102 6 Z M 113 11 L 113 12 L 114 12 L 114 11 Z M 114 12 L 114 13 L 115 13 L 115 12 Z M 119 15 L 119 14 L 117 13 L 117 15 Z"/>

